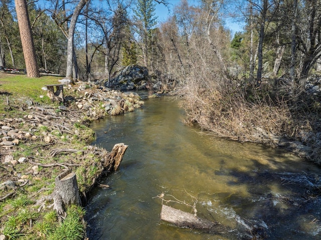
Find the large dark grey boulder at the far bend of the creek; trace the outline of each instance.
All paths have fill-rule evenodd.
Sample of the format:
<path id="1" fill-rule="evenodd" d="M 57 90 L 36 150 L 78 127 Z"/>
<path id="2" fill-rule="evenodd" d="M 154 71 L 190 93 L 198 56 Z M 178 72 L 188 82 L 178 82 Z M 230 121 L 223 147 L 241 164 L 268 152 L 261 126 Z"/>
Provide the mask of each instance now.
<path id="1" fill-rule="evenodd" d="M 110 87 L 116 90 L 133 90 L 137 89 L 138 83 L 142 80 L 148 80 L 148 69 L 138 65 L 124 67 L 114 74 L 110 79 Z M 105 82 L 108 86 L 108 82 Z"/>

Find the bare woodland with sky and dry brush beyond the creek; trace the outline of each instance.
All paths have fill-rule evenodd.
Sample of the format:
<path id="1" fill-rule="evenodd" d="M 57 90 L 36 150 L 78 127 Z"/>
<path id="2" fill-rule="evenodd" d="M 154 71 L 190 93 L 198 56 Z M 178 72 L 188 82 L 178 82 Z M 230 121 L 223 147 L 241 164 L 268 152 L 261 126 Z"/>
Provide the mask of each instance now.
<path id="1" fill-rule="evenodd" d="M 320 0 L 181 0 L 164 22 L 155 7 L 170 0 L 15 2 L 0 1 L 0 66 L 108 81 L 137 64 L 182 97 L 187 123 L 214 136 L 320 143 Z M 34 61 L 22 54 L 22 16 Z M 231 36 L 226 18 L 243 31 Z"/>

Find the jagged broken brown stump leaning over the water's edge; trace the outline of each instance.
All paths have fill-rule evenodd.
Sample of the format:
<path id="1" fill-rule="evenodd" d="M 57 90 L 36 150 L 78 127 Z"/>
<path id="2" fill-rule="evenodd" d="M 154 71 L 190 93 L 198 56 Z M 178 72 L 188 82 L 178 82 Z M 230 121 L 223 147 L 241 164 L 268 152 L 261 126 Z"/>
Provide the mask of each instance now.
<path id="1" fill-rule="evenodd" d="M 123 143 L 117 143 L 114 145 L 111 152 L 104 160 L 104 166 L 108 171 L 116 171 L 118 169 L 127 147 L 128 145 Z"/>

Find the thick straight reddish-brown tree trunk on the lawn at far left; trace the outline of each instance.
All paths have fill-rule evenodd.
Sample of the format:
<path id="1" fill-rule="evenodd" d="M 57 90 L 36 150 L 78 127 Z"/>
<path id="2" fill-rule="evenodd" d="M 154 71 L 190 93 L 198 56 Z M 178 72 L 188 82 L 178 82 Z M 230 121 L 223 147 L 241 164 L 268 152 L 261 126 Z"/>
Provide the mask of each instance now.
<path id="1" fill-rule="evenodd" d="M 25 57 L 27 76 L 39 78 L 39 68 L 37 64 L 34 40 L 32 37 L 30 20 L 26 0 L 15 0 L 17 19 L 20 31 L 20 38 Z"/>

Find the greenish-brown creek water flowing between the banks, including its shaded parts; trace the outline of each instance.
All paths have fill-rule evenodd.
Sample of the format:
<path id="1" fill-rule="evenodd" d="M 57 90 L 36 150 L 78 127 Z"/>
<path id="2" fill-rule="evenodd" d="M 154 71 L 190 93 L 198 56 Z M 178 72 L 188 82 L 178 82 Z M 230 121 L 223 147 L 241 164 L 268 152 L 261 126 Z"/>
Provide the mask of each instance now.
<path id="1" fill-rule="evenodd" d="M 182 117 L 173 98 L 161 97 L 92 125 L 92 144 L 110 151 L 123 142 L 128 149 L 119 170 L 100 182 L 110 189 L 97 187 L 89 198 L 89 239 L 321 239 L 320 167 L 282 149 L 212 138 Z M 199 216 L 227 230 L 162 221 L 162 193 L 196 202 Z"/>

